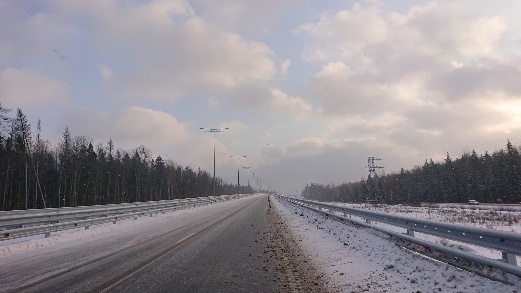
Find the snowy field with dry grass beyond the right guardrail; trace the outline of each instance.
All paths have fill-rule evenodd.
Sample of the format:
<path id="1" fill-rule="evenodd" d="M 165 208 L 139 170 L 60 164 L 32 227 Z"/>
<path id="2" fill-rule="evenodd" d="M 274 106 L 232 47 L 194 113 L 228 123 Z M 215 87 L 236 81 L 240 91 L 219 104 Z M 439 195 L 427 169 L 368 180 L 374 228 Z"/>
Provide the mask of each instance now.
<path id="1" fill-rule="evenodd" d="M 342 203 L 342 202 L 328 202 L 330 204 L 354 207 L 356 209 L 372 210 L 384 213 L 390 213 L 395 215 L 407 216 L 418 219 L 429 219 L 432 221 L 440 221 L 446 223 L 462 224 L 467 226 L 476 226 L 482 228 L 496 229 L 511 231 L 515 233 L 521 233 L 521 212 L 499 212 L 494 210 L 470 210 L 470 209 L 451 209 L 450 207 L 438 208 L 438 207 L 417 207 L 417 206 L 402 206 L 392 205 L 383 207 L 366 207 L 365 204 L 353 204 L 353 203 Z M 352 216 L 353 219 L 358 221 L 365 221 L 360 217 Z M 373 225 L 386 228 L 392 231 L 405 233 L 405 229 L 387 225 L 373 221 Z M 502 255 L 500 251 L 491 250 L 479 246 L 469 245 L 467 243 L 448 240 L 439 238 L 432 235 L 426 235 L 423 233 L 415 232 L 415 237 L 436 242 L 441 245 L 449 247 L 457 247 L 463 251 L 482 255 L 483 257 L 491 259 L 501 259 Z M 517 265 L 521 266 L 521 257 L 517 257 Z M 520 291 L 521 292 L 521 291 Z"/>

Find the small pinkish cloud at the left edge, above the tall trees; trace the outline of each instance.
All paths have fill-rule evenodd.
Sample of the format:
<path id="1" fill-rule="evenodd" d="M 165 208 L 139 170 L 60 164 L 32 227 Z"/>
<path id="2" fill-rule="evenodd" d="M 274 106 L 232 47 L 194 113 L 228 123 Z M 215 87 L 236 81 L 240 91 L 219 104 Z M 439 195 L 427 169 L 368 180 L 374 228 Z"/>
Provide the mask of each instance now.
<path id="1" fill-rule="evenodd" d="M 69 86 L 32 70 L 0 71 L 0 100 L 6 107 L 62 105 L 69 100 Z"/>

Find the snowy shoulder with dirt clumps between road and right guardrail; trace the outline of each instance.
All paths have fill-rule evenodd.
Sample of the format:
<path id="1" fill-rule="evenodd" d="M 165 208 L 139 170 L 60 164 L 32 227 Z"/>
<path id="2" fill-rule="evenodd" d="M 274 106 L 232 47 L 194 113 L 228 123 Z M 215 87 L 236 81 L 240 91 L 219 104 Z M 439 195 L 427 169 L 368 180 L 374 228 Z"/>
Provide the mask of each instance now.
<path id="1" fill-rule="evenodd" d="M 289 202 L 273 201 L 334 290 L 345 292 L 520 292 L 453 266 L 427 260 L 371 233 Z M 301 216 L 302 215 L 302 216 Z M 343 273 L 343 274 L 342 274 Z"/>

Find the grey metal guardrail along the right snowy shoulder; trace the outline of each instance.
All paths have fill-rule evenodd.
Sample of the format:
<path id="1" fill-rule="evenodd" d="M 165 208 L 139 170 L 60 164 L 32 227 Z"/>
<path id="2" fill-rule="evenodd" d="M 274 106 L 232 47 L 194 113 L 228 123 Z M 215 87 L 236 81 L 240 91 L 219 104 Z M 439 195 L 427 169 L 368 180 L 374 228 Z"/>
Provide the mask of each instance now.
<path id="1" fill-rule="evenodd" d="M 396 216 L 381 212 L 354 209 L 351 207 L 343 207 L 309 200 L 293 199 L 281 196 L 280 194 L 276 194 L 276 196 L 280 199 L 287 200 L 305 207 L 306 209 L 325 215 L 326 217 L 337 219 L 344 223 L 350 222 L 352 224 L 380 231 L 386 235 L 386 237 L 389 237 L 383 238 L 398 243 L 400 246 L 407 247 L 418 253 L 427 255 L 430 258 L 449 263 L 467 271 L 475 272 L 479 275 L 498 280 L 499 282 L 505 284 L 510 283 L 504 278 L 491 275 L 488 270 L 485 270 L 485 267 L 488 266 L 496 268 L 500 271 L 521 277 L 521 267 L 516 265 L 517 263 L 515 257 L 516 254 L 520 255 L 521 253 L 521 234 L 519 233 L 415 219 L 405 216 Z M 326 209 L 327 211 L 322 209 Z M 342 213 L 342 215 L 335 214 L 333 211 Z M 364 223 L 346 217 L 346 214 L 365 218 L 366 222 Z M 381 228 L 372 225 L 371 221 L 405 228 L 407 229 L 407 233 L 402 234 L 389 229 Z M 482 257 L 481 255 L 422 240 L 414 237 L 414 231 L 502 251 L 503 260 L 494 260 Z"/>

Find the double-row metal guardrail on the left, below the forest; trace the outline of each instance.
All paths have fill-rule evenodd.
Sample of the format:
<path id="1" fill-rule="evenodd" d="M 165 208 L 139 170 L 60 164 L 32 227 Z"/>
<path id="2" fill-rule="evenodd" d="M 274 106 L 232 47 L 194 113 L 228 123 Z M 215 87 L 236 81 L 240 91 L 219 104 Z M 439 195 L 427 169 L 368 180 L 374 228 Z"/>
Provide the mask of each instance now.
<path id="1" fill-rule="evenodd" d="M 156 202 L 136 202 L 124 204 L 91 205 L 78 207 L 59 207 L 56 209 L 17 210 L 0 212 L 0 241 L 31 235 L 44 234 L 74 228 L 100 225 L 158 213 L 190 209 L 191 207 L 238 199 L 241 196 L 218 196 L 166 200 Z"/>

